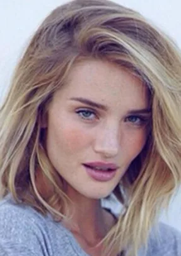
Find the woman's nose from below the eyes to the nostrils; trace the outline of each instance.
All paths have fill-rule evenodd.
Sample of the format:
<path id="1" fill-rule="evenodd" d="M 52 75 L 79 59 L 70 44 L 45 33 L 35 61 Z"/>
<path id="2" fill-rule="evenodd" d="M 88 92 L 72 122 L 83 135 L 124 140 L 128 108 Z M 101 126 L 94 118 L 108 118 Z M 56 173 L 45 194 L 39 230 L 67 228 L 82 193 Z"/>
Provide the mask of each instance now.
<path id="1" fill-rule="evenodd" d="M 103 157 L 115 157 L 119 152 L 119 126 L 107 125 L 96 134 L 94 150 Z"/>

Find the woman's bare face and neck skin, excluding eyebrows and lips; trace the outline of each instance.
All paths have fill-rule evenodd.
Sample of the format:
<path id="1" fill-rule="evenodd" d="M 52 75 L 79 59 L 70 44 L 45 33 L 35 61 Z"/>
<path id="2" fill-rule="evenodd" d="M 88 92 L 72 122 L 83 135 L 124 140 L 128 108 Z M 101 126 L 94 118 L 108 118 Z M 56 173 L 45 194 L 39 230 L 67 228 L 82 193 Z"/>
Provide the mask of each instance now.
<path id="1" fill-rule="evenodd" d="M 105 109 L 80 102 L 80 97 Z M 73 67 L 50 104 L 45 125 L 47 154 L 75 205 L 72 221 L 64 226 L 90 255 L 100 255 L 101 248 L 92 247 L 114 224 L 100 198 L 112 193 L 146 142 L 149 113 L 132 113 L 139 109 L 148 109 L 147 89 L 141 80 L 120 66 L 92 59 Z M 96 161 L 119 166 L 112 180 L 95 181 L 86 173 L 82 164 Z"/>

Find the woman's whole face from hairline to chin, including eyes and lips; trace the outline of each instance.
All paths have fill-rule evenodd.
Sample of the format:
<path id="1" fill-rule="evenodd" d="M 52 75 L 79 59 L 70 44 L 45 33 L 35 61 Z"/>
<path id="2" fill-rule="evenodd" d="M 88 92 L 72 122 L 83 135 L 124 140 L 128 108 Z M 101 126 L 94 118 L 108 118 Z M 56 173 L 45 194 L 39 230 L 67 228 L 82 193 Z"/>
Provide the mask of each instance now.
<path id="1" fill-rule="evenodd" d="M 67 194 L 103 198 L 114 190 L 146 142 L 147 97 L 124 68 L 98 60 L 74 66 L 47 118 L 47 154 Z"/>

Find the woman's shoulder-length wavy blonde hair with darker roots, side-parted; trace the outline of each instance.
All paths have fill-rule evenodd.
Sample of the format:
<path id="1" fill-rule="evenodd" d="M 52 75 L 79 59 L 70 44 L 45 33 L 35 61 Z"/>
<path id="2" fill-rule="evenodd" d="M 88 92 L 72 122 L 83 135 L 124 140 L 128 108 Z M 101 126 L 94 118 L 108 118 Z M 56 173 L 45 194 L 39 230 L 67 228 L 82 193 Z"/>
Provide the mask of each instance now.
<path id="1" fill-rule="evenodd" d="M 44 20 L 18 64 L 0 113 L 1 197 L 11 193 L 64 217 L 69 198 L 45 150 L 42 117 L 71 68 L 84 59 L 124 66 L 149 90 L 151 125 L 146 145 L 114 190 L 124 206 L 103 240 L 107 254 L 146 243 L 149 230 L 181 181 L 181 61 L 175 44 L 132 9 L 106 0 L 75 0 Z M 37 186 L 39 173 L 50 186 Z M 55 209 L 55 205 L 59 209 Z"/>

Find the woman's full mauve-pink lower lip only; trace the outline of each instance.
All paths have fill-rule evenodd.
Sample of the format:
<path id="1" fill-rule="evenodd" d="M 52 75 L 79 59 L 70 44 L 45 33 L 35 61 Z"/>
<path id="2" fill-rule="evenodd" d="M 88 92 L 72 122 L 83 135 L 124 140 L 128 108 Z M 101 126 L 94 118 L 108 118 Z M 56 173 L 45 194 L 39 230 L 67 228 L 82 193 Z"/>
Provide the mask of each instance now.
<path id="1" fill-rule="evenodd" d="M 116 170 L 115 171 L 99 171 L 95 169 L 88 168 L 87 166 L 84 166 L 86 169 L 86 173 L 93 178 L 96 181 L 109 181 L 114 178 Z"/>

